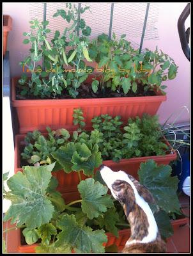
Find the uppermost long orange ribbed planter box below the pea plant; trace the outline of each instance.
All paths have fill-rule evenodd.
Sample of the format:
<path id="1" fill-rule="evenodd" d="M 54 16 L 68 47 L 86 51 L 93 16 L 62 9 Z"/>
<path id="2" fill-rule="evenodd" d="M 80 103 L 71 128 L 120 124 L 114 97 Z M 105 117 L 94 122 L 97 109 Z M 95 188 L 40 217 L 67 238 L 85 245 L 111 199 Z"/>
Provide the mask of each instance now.
<path id="1" fill-rule="evenodd" d="M 82 109 L 88 128 L 91 127 L 91 119 L 102 114 L 121 115 L 123 122 L 127 122 L 129 117 L 141 117 L 143 113 L 155 115 L 166 100 L 162 93 L 146 97 L 17 100 L 15 86 L 18 80 L 18 77 L 12 78 L 12 106 L 17 111 L 19 134 L 35 129 L 43 132 L 48 125 L 51 129 L 72 129 L 75 108 Z"/>

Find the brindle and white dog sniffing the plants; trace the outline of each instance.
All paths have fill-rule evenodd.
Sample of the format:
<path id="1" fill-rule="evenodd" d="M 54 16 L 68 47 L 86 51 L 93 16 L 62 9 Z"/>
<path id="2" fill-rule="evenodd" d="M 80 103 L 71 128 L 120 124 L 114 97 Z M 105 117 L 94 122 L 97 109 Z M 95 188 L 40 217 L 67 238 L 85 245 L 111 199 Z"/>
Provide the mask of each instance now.
<path id="1" fill-rule="evenodd" d="M 112 196 L 123 206 L 130 223 L 130 238 L 123 253 L 166 252 L 157 223 L 148 203 L 155 203 L 150 191 L 123 171 L 113 172 L 107 166 L 100 166 L 102 179 L 111 190 Z"/>

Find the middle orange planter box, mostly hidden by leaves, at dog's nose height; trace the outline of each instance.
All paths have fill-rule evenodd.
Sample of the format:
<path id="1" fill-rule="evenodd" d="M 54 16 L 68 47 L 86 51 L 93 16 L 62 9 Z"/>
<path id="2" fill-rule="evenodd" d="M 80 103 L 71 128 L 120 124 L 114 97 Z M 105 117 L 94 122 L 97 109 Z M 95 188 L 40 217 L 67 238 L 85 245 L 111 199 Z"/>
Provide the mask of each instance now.
<path id="1" fill-rule="evenodd" d="M 15 173 L 22 171 L 22 168 L 20 166 L 20 150 L 22 147 L 21 141 L 24 140 L 25 136 L 25 134 L 19 134 L 15 136 Z M 169 145 L 169 142 L 167 140 L 166 144 Z M 119 163 L 116 163 L 112 160 L 107 160 L 103 161 L 103 164 L 107 165 L 113 171 L 123 170 L 126 173 L 129 173 L 130 175 L 134 176 L 135 179 L 139 180 L 137 171 L 141 163 L 146 162 L 148 159 L 153 159 L 158 165 L 169 164 L 171 161 L 175 160 L 176 157 L 176 152 L 173 152 L 173 154 L 166 154 L 165 156 L 135 157 L 130 159 L 121 159 Z M 97 170 L 95 170 L 95 172 L 97 172 Z M 58 179 L 58 191 L 60 191 L 61 193 L 77 192 L 79 176 L 76 172 L 65 173 L 63 170 L 59 170 L 57 172 L 52 172 L 52 175 L 54 175 Z M 81 177 L 82 180 L 88 178 L 88 176 L 85 176 L 82 172 Z"/>

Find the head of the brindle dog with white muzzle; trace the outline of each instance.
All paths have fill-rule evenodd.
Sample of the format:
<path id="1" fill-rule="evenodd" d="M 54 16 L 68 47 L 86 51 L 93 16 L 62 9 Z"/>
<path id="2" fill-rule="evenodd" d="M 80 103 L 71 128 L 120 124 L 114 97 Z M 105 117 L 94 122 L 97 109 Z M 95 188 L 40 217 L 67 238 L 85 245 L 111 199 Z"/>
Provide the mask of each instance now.
<path id="1" fill-rule="evenodd" d="M 123 206 L 125 214 L 128 216 L 134 204 L 139 204 L 143 200 L 147 203 L 154 203 L 155 200 L 150 191 L 141 185 L 132 175 L 123 171 L 113 172 L 107 166 L 100 166 L 102 179 L 111 189 L 112 196 Z"/>

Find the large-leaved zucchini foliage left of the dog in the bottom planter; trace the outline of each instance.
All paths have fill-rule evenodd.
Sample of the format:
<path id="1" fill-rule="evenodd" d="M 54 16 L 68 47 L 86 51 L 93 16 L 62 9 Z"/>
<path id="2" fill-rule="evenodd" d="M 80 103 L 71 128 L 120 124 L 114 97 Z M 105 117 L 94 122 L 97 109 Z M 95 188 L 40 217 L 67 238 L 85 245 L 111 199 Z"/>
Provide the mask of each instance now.
<path id="1" fill-rule="evenodd" d="M 107 187 L 91 178 L 82 180 L 78 185 L 82 199 L 65 204 L 56 191 L 58 182 L 51 175 L 54 164 L 24 166 L 23 173 L 8 180 L 10 192 L 4 193 L 4 198 L 11 200 L 12 205 L 4 221 L 12 219 L 17 228 L 24 228 L 22 234 L 27 244 L 41 239 L 36 252 L 104 252 L 105 230 L 93 230 L 87 221 L 104 216 L 114 207 Z M 81 203 L 81 208 L 71 206 L 77 203 Z"/>

